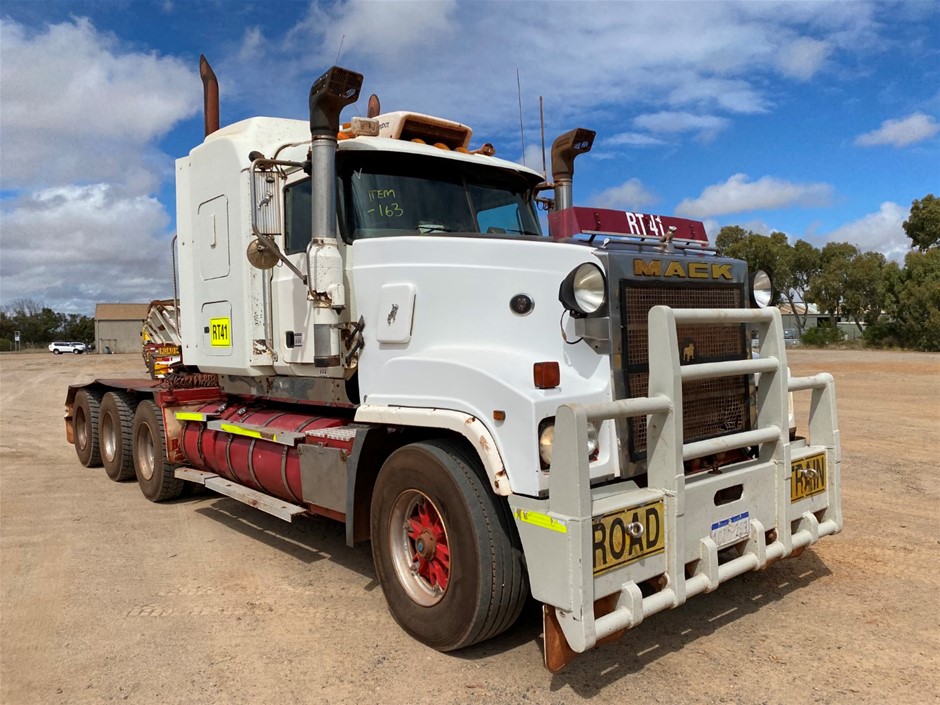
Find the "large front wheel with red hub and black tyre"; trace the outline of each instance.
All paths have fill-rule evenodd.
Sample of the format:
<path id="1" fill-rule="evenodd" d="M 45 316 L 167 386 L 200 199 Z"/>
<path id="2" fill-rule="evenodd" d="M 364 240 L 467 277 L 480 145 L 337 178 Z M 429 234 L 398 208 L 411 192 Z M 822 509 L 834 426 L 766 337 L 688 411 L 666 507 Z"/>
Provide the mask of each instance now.
<path id="1" fill-rule="evenodd" d="M 508 506 L 445 441 L 395 451 L 372 497 L 372 558 L 389 611 L 439 651 L 508 629 L 528 596 Z"/>

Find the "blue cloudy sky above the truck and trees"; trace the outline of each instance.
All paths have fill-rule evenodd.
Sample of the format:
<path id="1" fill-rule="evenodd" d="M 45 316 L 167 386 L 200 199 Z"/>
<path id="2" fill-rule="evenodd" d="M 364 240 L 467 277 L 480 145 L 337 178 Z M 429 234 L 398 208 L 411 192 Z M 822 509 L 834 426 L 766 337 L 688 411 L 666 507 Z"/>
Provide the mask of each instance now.
<path id="1" fill-rule="evenodd" d="M 172 295 L 174 160 L 222 123 L 308 118 L 334 63 L 542 169 L 597 132 L 576 205 L 851 242 L 902 260 L 940 193 L 940 3 L 4 0 L 0 306 L 92 315 Z M 521 116 L 520 116 L 521 102 Z M 521 129 L 520 129 L 521 128 Z"/>

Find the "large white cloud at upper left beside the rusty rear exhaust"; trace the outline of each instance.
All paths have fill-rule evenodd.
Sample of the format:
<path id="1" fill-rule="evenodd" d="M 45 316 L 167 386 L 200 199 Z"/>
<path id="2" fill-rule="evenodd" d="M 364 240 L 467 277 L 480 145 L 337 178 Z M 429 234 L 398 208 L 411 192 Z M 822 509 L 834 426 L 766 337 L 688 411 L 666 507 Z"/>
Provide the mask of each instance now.
<path id="1" fill-rule="evenodd" d="M 85 19 L 38 34 L 4 20 L 0 52 L 8 189 L 111 180 L 152 188 L 141 172 L 154 171 L 154 141 L 201 107 L 191 67 L 122 50 Z"/>

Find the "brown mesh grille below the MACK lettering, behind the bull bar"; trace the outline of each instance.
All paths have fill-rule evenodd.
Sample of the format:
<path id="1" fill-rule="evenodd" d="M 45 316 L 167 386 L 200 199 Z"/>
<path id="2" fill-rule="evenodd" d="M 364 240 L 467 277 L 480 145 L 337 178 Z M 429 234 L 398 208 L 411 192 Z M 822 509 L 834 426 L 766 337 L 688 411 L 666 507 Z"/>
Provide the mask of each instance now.
<path id="1" fill-rule="evenodd" d="M 743 308 L 741 286 L 668 286 L 622 280 L 622 369 L 628 398 L 646 396 L 649 389 L 648 314 L 653 306 L 672 308 Z M 740 324 L 678 326 L 680 363 L 740 360 L 748 356 L 745 327 Z M 750 427 L 749 381 L 746 375 L 682 385 L 684 441 L 723 436 Z M 646 457 L 646 419 L 628 421 L 630 460 Z"/>

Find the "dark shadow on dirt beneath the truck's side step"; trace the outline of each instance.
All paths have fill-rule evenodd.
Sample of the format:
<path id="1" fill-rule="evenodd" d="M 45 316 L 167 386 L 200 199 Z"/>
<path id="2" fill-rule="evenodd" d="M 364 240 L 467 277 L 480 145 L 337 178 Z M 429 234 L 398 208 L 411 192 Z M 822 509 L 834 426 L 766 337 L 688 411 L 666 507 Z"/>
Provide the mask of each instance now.
<path id="1" fill-rule="evenodd" d="M 241 502 L 218 495 L 186 497 L 180 502 L 198 500 L 197 514 L 224 524 L 243 536 L 281 551 L 291 558 L 312 565 L 329 560 L 367 578 L 365 590 L 379 587 L 372 567 L 372 551 L 364 542 L 355 548 L 346 545 L 343 524 L 322 517 L 300 517 L 288 523 L 259 512 Z"/>

